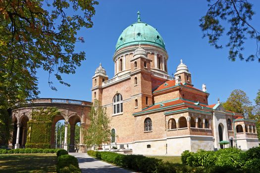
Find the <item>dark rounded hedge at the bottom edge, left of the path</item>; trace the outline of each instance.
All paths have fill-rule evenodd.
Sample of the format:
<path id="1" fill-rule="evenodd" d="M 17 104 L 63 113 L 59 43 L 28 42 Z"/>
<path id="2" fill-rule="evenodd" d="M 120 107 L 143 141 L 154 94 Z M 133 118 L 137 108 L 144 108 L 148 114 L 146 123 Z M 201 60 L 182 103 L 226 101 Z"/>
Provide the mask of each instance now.
<path id="1" fill-rule="evenodd" d="M 57 173 L 81 173 L 78 160 L 71 155 L 61 155 L 58 157 Z"/>

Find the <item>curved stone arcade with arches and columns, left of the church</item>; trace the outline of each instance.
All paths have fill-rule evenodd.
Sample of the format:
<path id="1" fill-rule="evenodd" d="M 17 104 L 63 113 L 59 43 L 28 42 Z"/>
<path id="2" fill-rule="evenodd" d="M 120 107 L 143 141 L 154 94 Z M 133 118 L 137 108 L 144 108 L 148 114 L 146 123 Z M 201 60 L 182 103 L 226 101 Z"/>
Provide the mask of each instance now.
<path id="1" fill-rule="evenodd" d="M 88 113 L 91 110 L 91 102 L 69 99 L 52 99 L 52 98 L 40 98 L 33 100 L 34 103 L 28 103 L 25 106 L 20 106 L 12 109 L 12 126 L 11 132 L 12 138 L 9 139 L 9 148 L 25 148 L 27 142 L 27 135 L 29 131 L 33 130 L 28 126 L 28 122 L 32 120 L 32 111 L 36 108 L 56 107 L 60 112 L 52 119 L 51 125 L 51 148 L 56 147 L 55 140 L 55 125 L 58 121 L 64 120 L 64 140 L 63 148 L 70 152 L 75 152 L 75 126 L 80 124 L 79 130 L 79 143 L 77 149 L 79 152 L 85 152 L 83 129 L 85 129 L 85 123 L 88 122 Z M 68 125 L 70 128 L 68 128 Z M 28 128 L 29 127 L 29 128 Z M 69 141 L 68 141 L 69 134 Z"/>

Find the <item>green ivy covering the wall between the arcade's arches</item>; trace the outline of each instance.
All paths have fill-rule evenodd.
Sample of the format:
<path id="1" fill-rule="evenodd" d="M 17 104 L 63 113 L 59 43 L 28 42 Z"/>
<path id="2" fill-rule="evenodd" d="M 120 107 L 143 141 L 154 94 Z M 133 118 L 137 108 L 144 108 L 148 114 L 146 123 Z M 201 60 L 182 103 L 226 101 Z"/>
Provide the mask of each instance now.
<path id="1" fill-rule="evenodd" d="M 26 148 L 50 148 L 52 120 L 60 115 L 58 108 L 37 108 L 32 111 L 32 120 L 28 122 Z"/>

